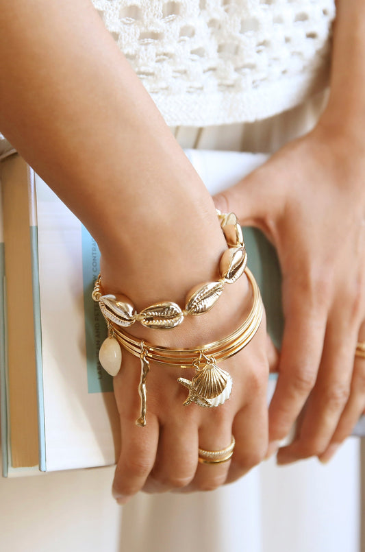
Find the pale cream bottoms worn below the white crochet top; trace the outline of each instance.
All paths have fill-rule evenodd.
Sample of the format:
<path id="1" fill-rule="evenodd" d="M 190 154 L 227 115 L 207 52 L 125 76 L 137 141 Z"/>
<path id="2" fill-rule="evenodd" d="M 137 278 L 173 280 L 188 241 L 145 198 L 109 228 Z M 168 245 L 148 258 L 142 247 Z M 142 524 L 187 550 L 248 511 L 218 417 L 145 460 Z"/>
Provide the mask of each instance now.
<path id="1" fill-rule="evenodd" d="M 310 128 L 321 99 L 271 121 L 177 128 L 184 147 L 272 152 Z M 0 479 L 1 549 L 12 552 L 358 552 L 360 442 L 322 466 L 270 459 L 210 493 L 112 499 L 114 468 Z"/>

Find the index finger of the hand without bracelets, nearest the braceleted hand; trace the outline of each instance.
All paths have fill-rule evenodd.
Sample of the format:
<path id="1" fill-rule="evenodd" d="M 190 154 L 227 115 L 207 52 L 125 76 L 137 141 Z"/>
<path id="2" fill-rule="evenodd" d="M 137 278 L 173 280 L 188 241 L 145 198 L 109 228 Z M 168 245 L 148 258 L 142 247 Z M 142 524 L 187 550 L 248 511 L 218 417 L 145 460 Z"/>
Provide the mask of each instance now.
<path id="1" fill-rule="evenodd" d="M 288 299 L 279 376 L 269 407 L 268 456 L 288 435 L 314 387 L 325 337 L 325 310 L 311 307 L 305 293 Z"/>

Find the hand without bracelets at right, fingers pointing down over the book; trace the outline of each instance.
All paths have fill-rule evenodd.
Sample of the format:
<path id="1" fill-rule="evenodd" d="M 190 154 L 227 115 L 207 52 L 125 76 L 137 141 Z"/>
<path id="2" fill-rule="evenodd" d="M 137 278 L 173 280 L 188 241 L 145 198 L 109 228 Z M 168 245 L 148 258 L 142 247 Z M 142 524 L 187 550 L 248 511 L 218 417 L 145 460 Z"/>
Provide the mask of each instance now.
<path id="1" fill-rule="evenodd" d="M 364 170 L 361 143 L 318 124 L 215 198 L 279 255 L 285 328 L 268 455 L 301 413 L 279 464 L 327 461 L 364 410 L 365 360 L 355 357 L 365 338 Z"/>

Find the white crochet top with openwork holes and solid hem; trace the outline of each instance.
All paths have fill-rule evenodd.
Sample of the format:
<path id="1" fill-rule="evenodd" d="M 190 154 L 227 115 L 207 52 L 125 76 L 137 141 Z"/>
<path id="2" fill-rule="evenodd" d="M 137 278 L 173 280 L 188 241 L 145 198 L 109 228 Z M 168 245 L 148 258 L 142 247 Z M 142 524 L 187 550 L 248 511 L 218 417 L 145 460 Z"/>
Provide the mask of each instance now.
<path id="1" fill-rule="evenodd" d="M 255 121 L 328 80 L 335 0 L 92 0 L 169 125 Z"/>

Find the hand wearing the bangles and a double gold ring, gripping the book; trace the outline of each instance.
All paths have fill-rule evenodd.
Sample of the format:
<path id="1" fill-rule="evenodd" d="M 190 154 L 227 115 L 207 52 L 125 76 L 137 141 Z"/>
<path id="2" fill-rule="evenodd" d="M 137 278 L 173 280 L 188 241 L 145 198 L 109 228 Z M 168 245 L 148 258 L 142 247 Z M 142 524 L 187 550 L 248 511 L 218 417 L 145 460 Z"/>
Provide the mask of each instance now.
<path id="1" fill-rule="evenodd" d="M 103 267 L 105 289 L 112 270 Z M 228 335 L 251 309 L 247 277 L 227 285 L 212 311 L 186 317 L 169 331 L 146 330 L 138 324 L 128 331 L 165 346 L 195 346 Z M 147 376 L 147 425 L 137 427 L 140 413 L 138 384 L 140 361 L 123 350 L 121 371 L 114 378 L 116 403 L 121 417 L 122 449 L 116 466 L 114 496 L 121 504 L 139 490 L 166 492 L 212 490 L 234 481 L 260 462 L 268 444 L 265 320 L 251 341 L 236 356 L 218 363 L 234 380 L 231 397 L 219 407 L 184 406 L 187 389 L 179 376 L 191 379 L 193 370 L 151 362 Z M 198 463 L 198 448 L 220 450 L 236 438 L 231 461 Z"/>

